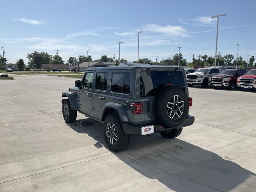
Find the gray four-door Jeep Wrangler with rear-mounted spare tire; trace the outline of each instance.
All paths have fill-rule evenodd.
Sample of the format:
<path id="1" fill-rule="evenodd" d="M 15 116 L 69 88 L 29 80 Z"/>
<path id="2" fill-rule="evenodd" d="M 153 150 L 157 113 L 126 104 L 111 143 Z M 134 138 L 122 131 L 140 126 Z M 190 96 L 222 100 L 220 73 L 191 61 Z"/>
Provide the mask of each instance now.
<path id="1" fill-rule="evenodd" d="M 171 66 L 88 68 L 82 80 L 62 93 L 65 122 L 77 111 L 102 122 L 108 148 L 124 150 L 130 135 L 160 133 L 175 138 L 194 123 L 184 69 Z"/>

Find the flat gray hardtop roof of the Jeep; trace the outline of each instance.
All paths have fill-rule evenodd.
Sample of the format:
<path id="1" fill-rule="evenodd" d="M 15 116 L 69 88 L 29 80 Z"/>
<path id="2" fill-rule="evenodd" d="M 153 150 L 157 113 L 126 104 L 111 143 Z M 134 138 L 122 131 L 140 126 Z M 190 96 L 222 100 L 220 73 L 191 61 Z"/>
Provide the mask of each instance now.
<path id="1" fill-rule="evenodd" d="M 134 66 L 111 66 L 111 67 L 92 67 L 86 69 L 86 71 L 94 71 L 94 70 L 132 70 L 135 68 L 180 68 L 184 69 L 183 67 L 178 66 L 168 66 L 168 65 L 134 65 Z"/>

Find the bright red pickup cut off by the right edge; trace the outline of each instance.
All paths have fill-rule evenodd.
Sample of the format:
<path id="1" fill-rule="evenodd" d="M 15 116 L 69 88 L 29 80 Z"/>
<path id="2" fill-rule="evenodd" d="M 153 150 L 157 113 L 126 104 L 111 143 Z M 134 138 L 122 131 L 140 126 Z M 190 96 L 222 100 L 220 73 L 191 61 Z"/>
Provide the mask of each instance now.
<path id="1" fill-rule="evenodd" d="M 238 90 L 256 89 L 256 69 L 249 70 L 245 75 L 237 79 Z"/>

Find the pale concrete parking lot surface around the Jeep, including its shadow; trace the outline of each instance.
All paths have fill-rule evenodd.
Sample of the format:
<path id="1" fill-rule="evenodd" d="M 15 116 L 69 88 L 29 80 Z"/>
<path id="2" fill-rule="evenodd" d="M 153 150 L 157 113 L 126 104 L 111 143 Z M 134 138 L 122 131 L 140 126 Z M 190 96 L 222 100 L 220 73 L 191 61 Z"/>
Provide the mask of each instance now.
<path id="1" fill-rule="evenodd" d="M 178 138 L 132 136 L 105 148 L 102 124 L 62 117 L 74 78 L 0 82 L 0 191 L 255 192 L 256 92 L 189 88 L 195 123 Z"/>

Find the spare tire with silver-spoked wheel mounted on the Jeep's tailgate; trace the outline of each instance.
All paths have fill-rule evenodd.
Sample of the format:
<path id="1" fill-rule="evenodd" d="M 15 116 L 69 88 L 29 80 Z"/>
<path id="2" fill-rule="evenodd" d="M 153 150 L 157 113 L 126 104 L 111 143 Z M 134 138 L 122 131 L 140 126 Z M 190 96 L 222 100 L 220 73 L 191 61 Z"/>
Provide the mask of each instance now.
<path id="1" fill-rule="evenodd" d="M 181 125 L 188 116 L 188 110 L 188 96 L 181 88 L 163 88 L 156 96 L 155 115 L 164 127 Z"/>

